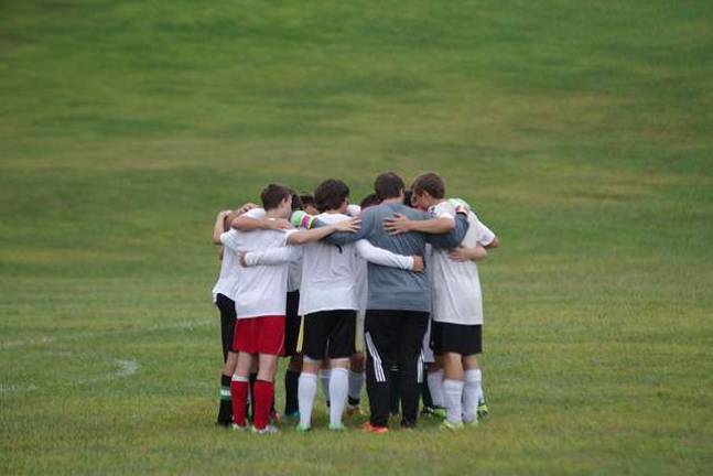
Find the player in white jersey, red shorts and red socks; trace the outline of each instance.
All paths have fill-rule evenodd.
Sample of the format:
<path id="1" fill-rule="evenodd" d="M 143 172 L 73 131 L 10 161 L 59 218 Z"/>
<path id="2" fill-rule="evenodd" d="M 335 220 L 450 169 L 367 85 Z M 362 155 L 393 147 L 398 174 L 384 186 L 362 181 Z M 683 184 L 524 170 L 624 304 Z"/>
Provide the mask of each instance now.
<path id="1" fill-rule="evenodd" d="M 283 226 L 292 210 L 292 194 L 283 186 L 270 184 L 261 193 L 262 207 L 268 220 Z M 237 218 L 239 220 L 240 218 Z M 234 220 L 234 226 L 235 226 Z M 231 229 L 220 235 L 220 242 L 230 250 L 245 253 L 251 250 L 300 245 L 318 240 L 335 231 L 353 232 L 358 220 L 346 220 L 314 230 L 256 230 Z M 274 400 L 273 378 L 278 356 L 284 344 L 284 316 L 289 266 L 257 266 L 240 270 L 235 286 L 237 323 L 234 351 L 238 353 L 236 370 L 230 383 L 234 428 L 246 430 L 246 404 L 249 393 L 248 377 L 253 360 L 258 360 L 258 376 L 253 388 L 252 431 L 274 433 L 269 424 L 270 407 Z"/>

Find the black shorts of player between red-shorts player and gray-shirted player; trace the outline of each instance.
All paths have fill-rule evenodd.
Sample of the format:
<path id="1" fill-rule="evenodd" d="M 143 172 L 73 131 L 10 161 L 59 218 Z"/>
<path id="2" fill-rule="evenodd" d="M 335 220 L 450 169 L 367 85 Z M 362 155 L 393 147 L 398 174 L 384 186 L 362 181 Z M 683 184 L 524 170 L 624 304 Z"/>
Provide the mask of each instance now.
<path id="1" fill-rule="evenodd" d="M 356 351 L 356 311 L 322 311 L 304 316 L 302 353 L 312 360 L 348 358 Z"/>

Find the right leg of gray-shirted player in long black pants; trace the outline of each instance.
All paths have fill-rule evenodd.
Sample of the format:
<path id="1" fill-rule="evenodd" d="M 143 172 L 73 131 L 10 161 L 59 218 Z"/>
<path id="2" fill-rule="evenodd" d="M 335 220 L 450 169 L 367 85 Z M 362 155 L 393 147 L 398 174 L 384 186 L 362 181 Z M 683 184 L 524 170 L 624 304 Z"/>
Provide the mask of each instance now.
<path id="1" fill-rule="evenodd" d="M 429 313 L 401 312 L 399 371 L 401 374 L 401 425 L 413 428 L 418 421 L 419 397 L 423 382 L 422 346 Z"/>

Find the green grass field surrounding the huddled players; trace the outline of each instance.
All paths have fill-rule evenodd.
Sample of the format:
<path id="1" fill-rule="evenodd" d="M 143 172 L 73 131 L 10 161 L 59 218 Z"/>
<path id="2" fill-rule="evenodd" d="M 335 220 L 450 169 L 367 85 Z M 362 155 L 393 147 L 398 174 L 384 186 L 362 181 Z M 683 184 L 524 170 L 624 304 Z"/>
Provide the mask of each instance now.
<path id="1" fill-rule="evenodd" d="M 0 473 L 711 474 L 712 22 L 703 1 L 0 2 Z M 388 169 L 440 171 L 501 240 L 491 418 L 216 430 L 215 213 L 269 181 L 359 199 Z"/>

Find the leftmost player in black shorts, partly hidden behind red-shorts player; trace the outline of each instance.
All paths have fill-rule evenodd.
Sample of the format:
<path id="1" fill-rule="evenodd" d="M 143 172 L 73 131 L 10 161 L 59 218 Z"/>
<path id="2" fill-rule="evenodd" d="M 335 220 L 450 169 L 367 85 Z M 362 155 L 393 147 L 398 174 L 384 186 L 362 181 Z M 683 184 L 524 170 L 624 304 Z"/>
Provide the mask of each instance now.
<path id="1" fill-rule="evenodd" d="M 220 235 L 229 229 L 233 218 L 255 208 L 251 203 L 242 205 L 237 210 L 223 210 L 218 213 L 213 227 L 213 242 L 220 245 Z M 233 291 L 239 272 L 238 256 L 230 249 L 220 247 L 220 274 L 213 288 L 213 303 L 220 312 L 220 335 L 223 343 L 223 372 L 220 375 L 220 399 L 216 424 L 229 426 L 233 422 L 233 408 L 230 404 L 230 378 L 238 361 L 238 355 L 230 350 L 235 329 L 235 300 Z"/>

